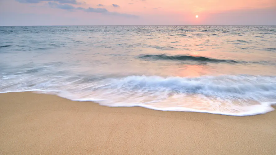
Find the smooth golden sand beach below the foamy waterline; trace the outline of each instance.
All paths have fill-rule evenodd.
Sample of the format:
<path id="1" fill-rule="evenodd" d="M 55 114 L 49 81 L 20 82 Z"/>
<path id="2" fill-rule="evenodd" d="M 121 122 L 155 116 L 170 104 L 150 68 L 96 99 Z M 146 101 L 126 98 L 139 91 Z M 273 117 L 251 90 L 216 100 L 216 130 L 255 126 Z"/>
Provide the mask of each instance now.
<path id="1" fill-rule="evenodd" d="M 233 117 L 4 93 L 0 154 L 275 155 L 276 112 Z"/>

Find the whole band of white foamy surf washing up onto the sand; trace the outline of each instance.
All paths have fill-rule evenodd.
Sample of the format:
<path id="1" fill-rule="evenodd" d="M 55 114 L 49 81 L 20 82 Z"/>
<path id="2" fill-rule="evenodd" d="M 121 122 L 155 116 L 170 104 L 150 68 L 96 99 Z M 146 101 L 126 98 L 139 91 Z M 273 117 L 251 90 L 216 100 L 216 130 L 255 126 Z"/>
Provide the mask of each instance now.
<path id="1" fill-rule="evenodd" d="M 0 77 L 2 93 L 40 91 L 73 101 L 93 101 L 110 107 L 141 106 L 156 110 L 233 116 L 267 113 L 274 110 L 270 105 L 276 103 L 274 76 L 165 78 L 144 75 L 99 78 L 93 81 L 85 81 L 84 77 L 78 78 L 79 80 L 60 76 L 43 76 L 44 80 L 34 76 L 18 77 L 20 79 L 17 81 L 14 81 L 15 76 L 5 77 L 7 80 Z"/>

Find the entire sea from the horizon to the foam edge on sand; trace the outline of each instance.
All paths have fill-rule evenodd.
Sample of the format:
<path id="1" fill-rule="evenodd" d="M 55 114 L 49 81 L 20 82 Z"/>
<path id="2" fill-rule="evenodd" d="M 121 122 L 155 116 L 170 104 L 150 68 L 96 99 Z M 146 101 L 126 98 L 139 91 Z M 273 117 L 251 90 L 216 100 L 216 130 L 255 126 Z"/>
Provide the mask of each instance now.
<path id="1" fill-rule="evenodd" d="M 276 103 L 276 26 L 0 26 L 0 34 L 2 93 L 232 116 Z"/>

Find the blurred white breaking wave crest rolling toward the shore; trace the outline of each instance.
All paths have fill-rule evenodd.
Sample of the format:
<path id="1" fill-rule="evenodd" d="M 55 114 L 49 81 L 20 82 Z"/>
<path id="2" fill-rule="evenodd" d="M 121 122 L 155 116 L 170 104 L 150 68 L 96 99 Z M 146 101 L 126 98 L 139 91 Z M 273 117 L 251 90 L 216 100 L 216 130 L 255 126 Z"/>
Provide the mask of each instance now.
<path id="1" fill-rule="evenodd" d="M 212 93 L 236 93 L 244 95 L 256 91 L 272 91 L 274 93 L 276 91 L 276 77 L 274 76 L 225 75 L 218 77 L 205 76 L 198 78 L 128 76 L 126 78 L 115 79 L 115 81 L 120 83 L 120 85 L 123 84 L 124 86 L 129 85 L 131 87 L 151 88 L 162 87 L 181 93 L 207 93 L 208 95 L 211 95 Z"/>

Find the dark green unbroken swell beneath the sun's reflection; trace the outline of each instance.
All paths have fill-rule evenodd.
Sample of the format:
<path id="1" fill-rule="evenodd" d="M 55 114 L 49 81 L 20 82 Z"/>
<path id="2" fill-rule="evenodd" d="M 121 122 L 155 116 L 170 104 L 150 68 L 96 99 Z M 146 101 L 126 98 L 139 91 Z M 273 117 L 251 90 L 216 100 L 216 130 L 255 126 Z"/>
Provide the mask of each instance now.
<path id="1" fill-rule="evenodd" d="M 153 60 L 190 60 L 190 61 L 198 61 L 198 62 L 212 62 L 212 63 L 240 63 L 235 60 L 224 60 L 224 59 L 214 59 L 207 58 L 204 56 L 192 56 L 192 55 L 166 55 L 166 54 L 154 54 L 154 55 L 140 55 L 141 59 L 153 59 Z"/>

